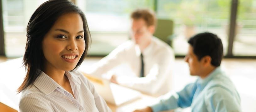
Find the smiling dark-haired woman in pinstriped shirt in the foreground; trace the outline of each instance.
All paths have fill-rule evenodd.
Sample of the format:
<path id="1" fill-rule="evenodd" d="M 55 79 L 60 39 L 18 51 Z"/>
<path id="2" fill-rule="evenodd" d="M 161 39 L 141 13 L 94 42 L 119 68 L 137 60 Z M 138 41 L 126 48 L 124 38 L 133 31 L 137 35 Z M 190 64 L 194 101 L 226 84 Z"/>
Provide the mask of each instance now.
<path id="1" fill-rule="evenodd" d="M 70 1 L 50 0 L 36 9 L 27 26 L 26 77 L 18 89 L 21 112 L 111 111 L 93 85 L 75 71 L 89 41 L 85 15 Z"/>

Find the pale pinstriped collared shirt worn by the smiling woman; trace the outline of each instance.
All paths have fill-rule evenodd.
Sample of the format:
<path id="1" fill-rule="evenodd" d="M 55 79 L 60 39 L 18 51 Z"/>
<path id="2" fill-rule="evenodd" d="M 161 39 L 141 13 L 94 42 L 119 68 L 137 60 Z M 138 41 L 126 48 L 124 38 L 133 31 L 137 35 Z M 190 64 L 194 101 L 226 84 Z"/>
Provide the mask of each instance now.
<path id="1" fill-rule="evenodd" d="M 104 99 L 94 86 L 79 72 L 65 72 L 72 94 L 43 73 L 34 84 L 22 92 L 20 112 L 109 112 Z"/>

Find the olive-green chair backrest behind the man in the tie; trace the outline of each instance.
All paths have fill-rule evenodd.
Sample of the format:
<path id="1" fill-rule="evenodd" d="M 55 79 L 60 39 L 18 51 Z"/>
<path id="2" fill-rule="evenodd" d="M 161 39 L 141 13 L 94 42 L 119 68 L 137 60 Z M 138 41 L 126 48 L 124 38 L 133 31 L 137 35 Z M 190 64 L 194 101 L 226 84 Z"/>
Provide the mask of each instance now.
<path id="1" fill-rule="evenodd" d="M 173 26 L 172 20 L 158 19 L 154 36 L 170 45 L 170 36 L 173 34 Z"/>

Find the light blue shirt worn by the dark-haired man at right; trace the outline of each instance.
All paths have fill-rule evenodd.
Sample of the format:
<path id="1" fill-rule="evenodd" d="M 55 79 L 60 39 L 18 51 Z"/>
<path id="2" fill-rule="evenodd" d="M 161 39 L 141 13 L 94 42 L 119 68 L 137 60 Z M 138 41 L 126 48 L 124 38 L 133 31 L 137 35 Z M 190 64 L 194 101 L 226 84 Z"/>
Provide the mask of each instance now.
<path id="1" fill-rule="evenodd" d="M 183 90 L 162 98 L 154 112 L 191 106 L 192 112 L 240 112 L 240 96 L 224 72 L 217 67 L 205 79 L 198 78 Z"/>

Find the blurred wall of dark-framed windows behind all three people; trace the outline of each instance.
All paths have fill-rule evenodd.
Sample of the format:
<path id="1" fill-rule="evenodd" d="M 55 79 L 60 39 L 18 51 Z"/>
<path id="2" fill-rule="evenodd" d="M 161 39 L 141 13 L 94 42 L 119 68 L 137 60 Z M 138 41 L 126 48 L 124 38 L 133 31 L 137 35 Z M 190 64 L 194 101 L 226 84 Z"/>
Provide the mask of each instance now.
<path id="1" fill-rule="evenodd" d="M 0 55 L 23 56 L 28 20 L 45 1 L 1 0 Z M 149 8 L 156 12 L 158 19 L 173 22 L 168 38 L 176 56 L 186 54 L 190 36 L 209 31 L 222 39 L 225 57 L 256 57 L 256 0 L 72 1 L 86 15 L 92 35 L 91 56 L 105 56 L 125 42 L 129 38 L 130 13 L 137 8 Z"/>

